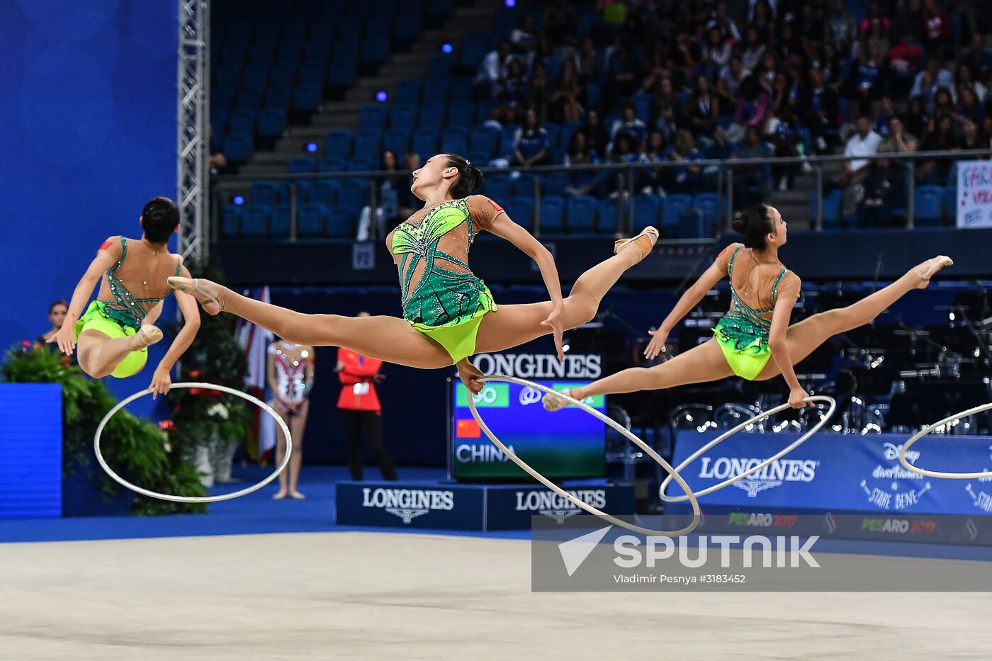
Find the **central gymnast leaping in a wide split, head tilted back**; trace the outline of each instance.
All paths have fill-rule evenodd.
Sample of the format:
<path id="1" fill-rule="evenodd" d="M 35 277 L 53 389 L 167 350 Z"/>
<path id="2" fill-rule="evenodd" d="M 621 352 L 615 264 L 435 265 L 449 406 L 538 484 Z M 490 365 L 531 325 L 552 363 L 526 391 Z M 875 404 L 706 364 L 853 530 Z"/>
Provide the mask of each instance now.
<path id="1" fill-rule="evenodd" d="M 482 173 L 455 154 L 438 154 L 414 172 L 411 191 L 424 200 L 424 208 L 386 239 L 399 269 L 403 319 L 304 315 L 208 280 L 175 277 L 169 283 L 195 296 L 208 314 L 231 313 L 298 344 L 344 346 L 426 369 L 454 364 L 462 382 L 478 393 L 483 374 L 468 356 L 552 333 L 563 359 L 562 331 L 592 320 L 606 292 L 658 240 L 658 230 L 648 227 L 634 238 L 616 241 L 616 254 L 583 273 L 562 298 L 551 252 L 495 201 L 472 195 L 481 185 Z M 489 289 L 468 268 L 469 246 L 482 230 L 510 241 L 537 262 L 550 301 L 497 309 Z"/>

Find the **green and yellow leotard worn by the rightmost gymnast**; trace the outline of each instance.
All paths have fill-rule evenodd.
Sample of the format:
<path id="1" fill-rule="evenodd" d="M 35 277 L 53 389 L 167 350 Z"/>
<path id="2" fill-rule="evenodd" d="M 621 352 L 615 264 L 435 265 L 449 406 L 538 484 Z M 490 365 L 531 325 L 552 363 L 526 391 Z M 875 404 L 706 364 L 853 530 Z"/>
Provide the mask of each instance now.
<path id="1" fill-rule="evenodd" d="M 727 263 L 727 277 L 731 278 L 730 300 L 732 305 L 730 311 L 713 329 L 713 335 L 720 344 L 720 348 L 723 349 L 723 355 L 734 374 L 753 381 L 764 369 L 768 359 L 772 357 L 772 350 L 768 346 L 772 321 L 765 319 L 762 315 L 774 312 L 775 302 L 779 295 L 779 283 L 789 273 L 789 269 L 783 268 L 772 285 L 772 306 L 755 310 L 737 295 L 731 277 L 734 258 L 743 247 L 743 245 L 737 246 Z"/>

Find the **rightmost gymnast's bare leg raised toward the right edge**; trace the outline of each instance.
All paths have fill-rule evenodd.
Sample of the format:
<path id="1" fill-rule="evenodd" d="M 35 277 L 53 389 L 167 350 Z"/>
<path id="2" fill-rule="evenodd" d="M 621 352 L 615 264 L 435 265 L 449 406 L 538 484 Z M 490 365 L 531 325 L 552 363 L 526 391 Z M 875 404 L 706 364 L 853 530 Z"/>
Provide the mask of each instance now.
<path id="1" fill-rule="evenodd" d="M 910 269 L 896 282 L 870 296 L 866 296 L 857 303 L 853 303 L 846 308 L 827 310 L 791 326 L 786 339 L 789 342 L 789 352 L 792 355 L 793 363 L 798 363 L 800 360 L 806 358 L 816 347 L 831 336 L 840 332 L 851 331 L 870 323 L 885 312 L 889 306 L 906 296 L 909 292 L 914 289 L 926 287 L 930 282 L 930 276 L 936 270 L 953 263 L 949 262 L 949 260 L 949 263 L 934 263 L 938 259 L 940 258 L 936 257 Z M 781 373 L 782 370 L 775 364 L 775 361 L 769 360 L 768 364 L 765 365 L 765 368 L 755 380 L 764 381 Z"/>

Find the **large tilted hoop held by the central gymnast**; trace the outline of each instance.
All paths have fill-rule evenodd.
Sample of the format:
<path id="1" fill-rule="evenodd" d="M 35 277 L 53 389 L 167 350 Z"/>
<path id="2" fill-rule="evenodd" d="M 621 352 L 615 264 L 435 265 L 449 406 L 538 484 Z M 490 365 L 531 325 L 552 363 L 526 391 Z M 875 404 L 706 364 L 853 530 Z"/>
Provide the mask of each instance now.
<path id="1" fill-rule="evenodd" d="M 535 390 L 540 390 L 541 392 L 545 393 L 546 395 L 555 395 L 555 396 L 558 396 L 558 397 L 563 397 L 564 399 L 568 400 L 573 406 L 577 406 L 578 408 L 582 409 L 586 413 L 591 414 L 594 418 L 596 418 L 596 419 L 600 420 L 601 422 L 603 422 L 604 424 L 612 427 L 617 432 L 619 432 L 620 434 L 622 434 L 624 437 L 626 437 L 627 439 L 629 439 L 631 441 L 631 443 L 635 444 L 641 450 L 643 450 L 644 452 L 646 452 L 651 457 L 651 459 L 653 459 L 656 462 L 660 463 L 663 468 L 665 468 L 666 470 L 668 470 L 669 473 L 670 473 L 670 477 L 669 478 L 671 479 L 672 477 L 675 477 L 676 478 L 676 481 L 679 483 L 680 486 L 682 486 L 683 489 L 685 489 L 685 492 L 686 493 L 691 493 L 691 490 L 689 489 L 688 484 L 686 484 L 685 483 L 685 480 L 682 479 L 682 475 L 680 475 L 679 472 L 675 468 L 673 468 L 668 462 L 666 462 L 664 459 L 662 459 L 661 456 L 658 453 L 656 453 L 654 450 L 652 450 L 652 448 L 648 444 L 646 444 L 641 439 L 637 438 L 633 433 L 630 432 L 630 430 L 625 429 L 618 422 L 616 422 L 615 420 L 613 420 L 612 418 L 610 418 L 608 416 L 603 415 L 599 411 L 596 411 L 591 406 L 588 406 L 586 404 L 583 404 L 582 402 L 580 402 L 580 401 L 578 401 L 578 400 L 576 400 L 576 399 L 574 399 L 572 397 L 569 397 L 568 395 L 565 395 L 564 393 L 560 393 L 557 390 L 552 390 L 548 386 L 541 385 L 540 383 L 534 383 L 533 381 L 528 381 L 527 379 L 517 378 L 516 376 L 505 376 L 503 374 L 490 374 L 489 376 L 485 376 L 485 377 L 480 378 L 479 381 L 482 381 L 483 383 L 485 383 L 487 381 L 506 381 L 508 383 L 516 383 L 517 385 L 528 386 L 530 388 L 534 388 Z M 487 427 L 486 424 L 485 424 L 485 422 L 483 422 L 482 418 L 479 417 L 479 412 L 475 410 L 475 401 L 474 401 L 474 397 L 472 397 L 471 392 L 468 393 L 467 400 L 468 400 L 468 409 L 472 412 L 472 417 L 475 418 L 475 422 L 477 422 L 479 424 L 479 428 L 483 432 L 485 432 L 485 435 L 487 437 L 489 437 L 489 440 L 492 441 L 493 444 L 497 448 L 499 448 L 503 452 L 504 455 L 506 455 L 511 460 L 513 460 L 513 463 L 516 463 L 517 465 L 519 465 L 521 468 L 523 468 L 525 471 L 527 471 L 536 480 L 538 480 L 539 482 L 541 482 L 542 484 L 544 484 L 545 486 L 547 486 L 548 488 L 550 488 L 552 491 L 555 491 L 556 493 L 558 493 L 559 496 L 568 499 L 576 507 L 580 507 L 580 508 L 584 509 L 585 511 L 587 511 L 589 514 L 593 514 L 593 515 L 598 516 L 599 518 L 601 518 L 601 519 L 603 519 L 605 521 L 609 521 L 610 523 L 613 523 L 613 524 L 618 525 L 618 526 L 622 526 L 622 527 L 624 527 L 624 528 L 626 528 L 628 530 L 632 530 L 632 531 L 634 531 L 636 533 L 640 533 L 642 535 L 663 535 L 663 536 L 666 536 L 666 537 L 678 537 L 680 535 L 687 535 L 688 533 L 692 532 L 692 530 L 694 530 L 697 525 L 699 525 L 699 503 L 696 501 L 694 495 L 690 495 L 689 498 L 688 498 L 689 503 L 692 505 L 692 521 L 687 526 L 685 526 L 684 528 L 682 528 L 681 530 L 671 530 L 671 531 L 669 531 L 669 530 L 652 530 L 650 528 L 642 528 L 641 526 L 635 525 L 633 523 L 629 523 L 629 522 L 624 521 L 622 519 L 618 519 L 615 516 L 611 516 L 611 515 L 607 514 L 606 512 L 603 512 L 601 510 L 596 509 L 592 505 L 586 504 L 581 499 L 576 498 L 572 494 L 568 493 L 567 491 L 565 491 L 564 489 L 562 489 L 560 486 L 558 486 L 558 484 L 556 484 L 555 482 L 551 481 L 550 479 L 548 479 L 547 477 L 545 477 L 544 475 L 542 475 L 540 472 L 538 472 L 537 470 L 535 470 L 534 468 L 532 468 L 528 463 L 524 462 L 524 460 L 522 460 L 519 457 L 517 457 L 513 453 L 512 450 L 510 450 L 505 445 L 503 445 L 503 442 L 501 442 L 499 439 L 496 438 L 496 435 L 493 434 L 489 430 L 489 427 Z"/>

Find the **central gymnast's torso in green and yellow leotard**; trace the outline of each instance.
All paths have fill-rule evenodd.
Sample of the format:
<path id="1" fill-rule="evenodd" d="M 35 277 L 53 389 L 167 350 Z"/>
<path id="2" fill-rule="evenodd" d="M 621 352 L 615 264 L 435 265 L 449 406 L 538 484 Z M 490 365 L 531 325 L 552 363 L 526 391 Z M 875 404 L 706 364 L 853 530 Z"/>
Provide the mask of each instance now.
<path id="1" fill-rule="evenodd" d="M 404 319 L 455 363 L 475 352 L 479 324 L 496 310 L 489 288 L 468 267 L 468 249 L 502 212 L 483 196 L 449 199 L 418 211 L 387 238 L 399 268 Z"/>

